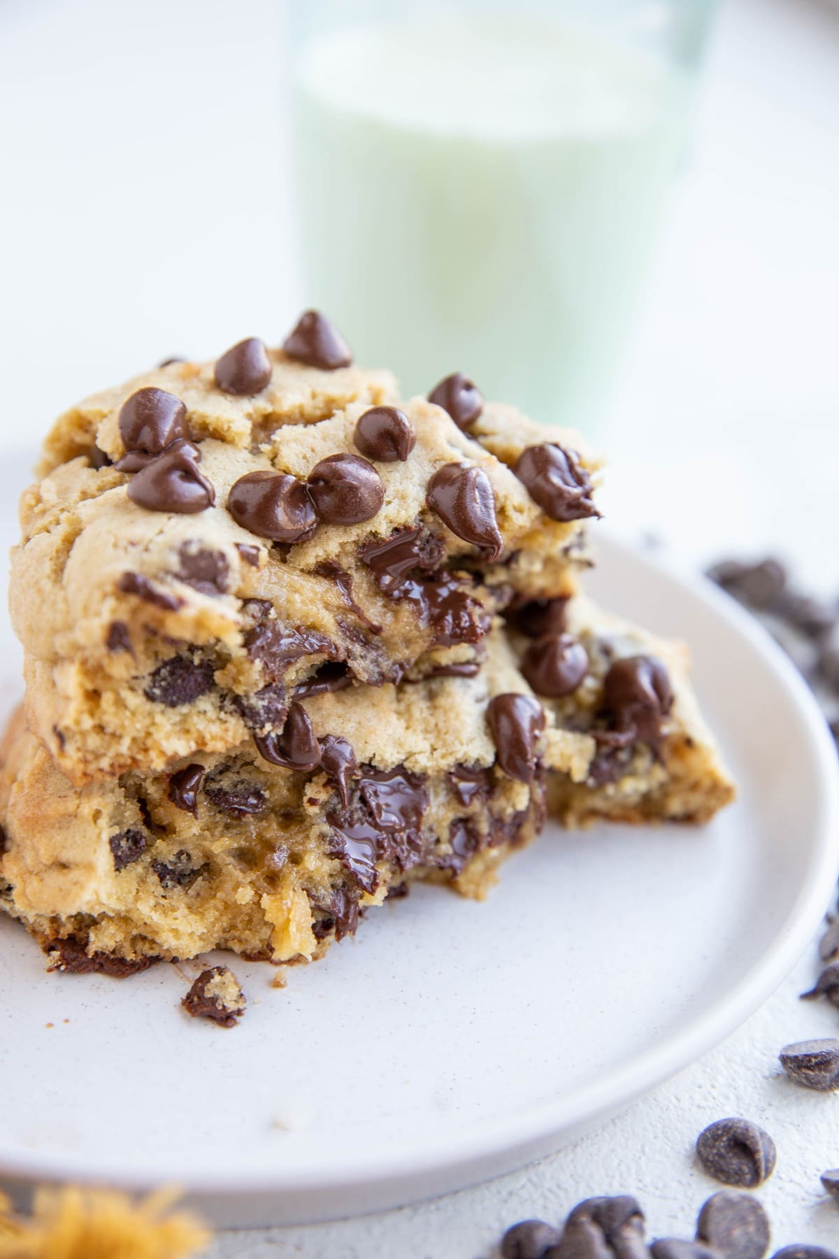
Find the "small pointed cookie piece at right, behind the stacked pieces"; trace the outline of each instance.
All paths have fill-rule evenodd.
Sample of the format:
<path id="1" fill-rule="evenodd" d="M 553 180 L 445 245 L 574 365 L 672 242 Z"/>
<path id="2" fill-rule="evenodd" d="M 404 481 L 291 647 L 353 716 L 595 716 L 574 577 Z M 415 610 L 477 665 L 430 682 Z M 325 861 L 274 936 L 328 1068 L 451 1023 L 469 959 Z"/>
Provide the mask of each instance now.
<path id="1" fill-rule="evenodd" d="M 511 611 L 509 637 L 553 719 L 545 753 L 548 771 L 557 769 L 548 773 L 548 807 L 565 826 L 599 818 L 706 822 L 733 799 L 683 643 L 610 616 L 582 596 L 565 607 Z"/>

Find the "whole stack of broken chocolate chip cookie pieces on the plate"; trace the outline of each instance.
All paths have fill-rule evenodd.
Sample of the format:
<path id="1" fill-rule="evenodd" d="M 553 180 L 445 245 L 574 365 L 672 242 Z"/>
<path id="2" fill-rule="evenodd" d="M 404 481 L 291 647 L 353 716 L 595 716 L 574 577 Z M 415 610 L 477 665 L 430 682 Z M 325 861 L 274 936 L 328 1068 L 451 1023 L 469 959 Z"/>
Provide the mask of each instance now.
<path id="1" fill-rule="evenodd" d="M 703 821 L 682 647 L 579 592 L 576 433 L 399 398 L 307 312 L 63 415 L 21 502 L 0 908 L 72 969 L 321 956 L 411 880 L 482 896 L 546 810 Z"/>

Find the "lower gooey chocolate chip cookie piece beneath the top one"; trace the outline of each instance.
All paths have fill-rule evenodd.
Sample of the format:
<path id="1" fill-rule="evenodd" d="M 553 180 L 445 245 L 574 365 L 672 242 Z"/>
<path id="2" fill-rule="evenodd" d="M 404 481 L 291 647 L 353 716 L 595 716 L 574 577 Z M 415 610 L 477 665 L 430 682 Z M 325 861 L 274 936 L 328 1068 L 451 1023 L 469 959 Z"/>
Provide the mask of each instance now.
<path id="1" fill-rule="evenodd" d="M 541 826 L 548 728 L 499 631 L 474 677 L 298 703 L 273 763 L 247 742 L 79 788 L 19 714 L 0 906 L 67 969 L 316 958 L 410 880 L 483 896 Z"/>

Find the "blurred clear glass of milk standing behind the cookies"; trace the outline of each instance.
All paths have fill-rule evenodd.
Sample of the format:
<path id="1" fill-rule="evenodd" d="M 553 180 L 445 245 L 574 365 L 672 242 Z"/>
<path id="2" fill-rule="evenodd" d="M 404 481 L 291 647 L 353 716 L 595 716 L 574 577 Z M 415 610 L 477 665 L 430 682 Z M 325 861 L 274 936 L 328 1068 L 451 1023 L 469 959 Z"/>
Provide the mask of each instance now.
<path id="1" fill-rule="evenodd" d="M 306 0 L 306 302 L 405 394 L 464 371 L 591 429 L 654 244 L 712 0 Z"/>

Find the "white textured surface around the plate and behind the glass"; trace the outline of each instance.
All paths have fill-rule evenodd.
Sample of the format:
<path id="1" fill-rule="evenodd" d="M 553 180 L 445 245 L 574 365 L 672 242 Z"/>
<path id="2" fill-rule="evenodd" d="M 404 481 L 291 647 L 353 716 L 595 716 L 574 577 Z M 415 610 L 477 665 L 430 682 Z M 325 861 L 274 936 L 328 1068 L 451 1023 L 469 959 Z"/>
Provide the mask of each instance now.
<path id="1" fill-rule="evenodd" d="M 29 444 L 70 398 L 165 354 L 209 355 L 250 330 L 277 337 L 298 306 L 275 5 L 239 0 L 235 21 L 220 0 L 200 11 L 184 0 L 3 6 L 4 174 L 26 193 L 0 205 L 14 240 L 4 442 Z M 609 488 L 613 525 L 655 529 L 688 560 L 780 543 L 826 588 L 839 584 L 838 13 L 818 0 L 723 5 L 694 160 L 616 407 Z M 148 92 L 152 47 L 162 63 Z M 254 193 L 244 199 L 240 170 Z M 558 1219 L 610 1190 L 636 1191 L 653 1233 L 689 1235 L 713 1188 L 693 1141 L 727 1113 L 777 1142 L 760 1191 L 775 1241 L 839 1248 L 839 1209 L 818 1181 L 839 1165 L 839 1098 L 796 1090 L 775 1068 L 785 1041 L 839 1031 L 830 1007 L 797 1002 L 813 973 L 805 959 L 725 1046 L 537 1167 L 401 1212 L 230 1235 L 214 1259 L 477 1259 L 514 1219 Z"/>

